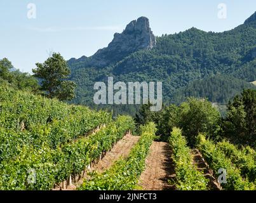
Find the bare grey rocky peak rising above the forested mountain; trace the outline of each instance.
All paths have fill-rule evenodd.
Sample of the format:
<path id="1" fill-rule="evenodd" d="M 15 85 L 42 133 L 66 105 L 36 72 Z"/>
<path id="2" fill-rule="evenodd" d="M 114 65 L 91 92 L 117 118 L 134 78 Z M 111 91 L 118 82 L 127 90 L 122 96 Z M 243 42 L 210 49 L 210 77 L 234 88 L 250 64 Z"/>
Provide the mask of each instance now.
<path id="1" fill-rule="evenodd" d="M 118 62 L 134 51 L 152 49 L 156 45 L 156 37 L 149 27 L 149 19 L 140 17 L 130 22 L 121 33 L 114 34 L 114 39 L 107 48 L 100 49 L 95 55 L 86 59 L 86 65 L 105 67 Z"/>

